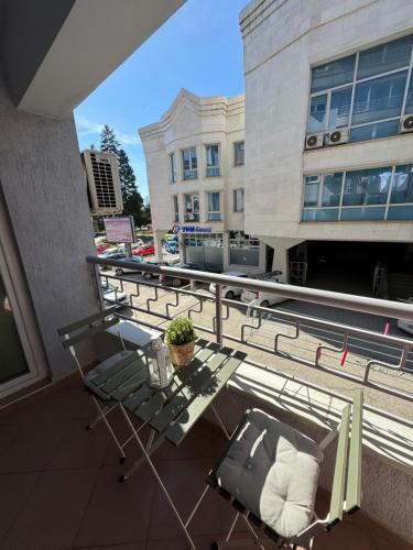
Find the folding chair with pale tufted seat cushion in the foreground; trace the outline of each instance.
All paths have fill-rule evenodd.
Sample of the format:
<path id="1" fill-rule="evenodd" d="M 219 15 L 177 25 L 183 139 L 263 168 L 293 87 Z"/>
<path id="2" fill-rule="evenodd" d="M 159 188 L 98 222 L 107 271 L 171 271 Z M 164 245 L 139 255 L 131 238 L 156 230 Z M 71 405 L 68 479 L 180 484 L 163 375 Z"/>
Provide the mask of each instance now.
<path id="1" fill-rule="evenodd" d="M 314 537 L 329 531 L 344 513 L 360 508 L 362 393 L 341 415 L 339 430 L 332 430 L 316 443 L 291 426 L 260 409 L 244 413 L 228 447 L 207 476 L 207 484 L 219 491 L 237 513 L 226 539 L 214 549 L 251 546 L 249 540 L 231 541 L 241 515 L 252 534 L 253 544 L 264 548 L 312 548 Z M 338 437 L 329 513 L 319 519 L 314 510 L 319 464 L 324 450 Z M 263 540 L 254 528 L 263 528 Z M 269 540 L 270 539 L 270 540 Z M 268 547 L 265 547 L 268 548 Z"/>

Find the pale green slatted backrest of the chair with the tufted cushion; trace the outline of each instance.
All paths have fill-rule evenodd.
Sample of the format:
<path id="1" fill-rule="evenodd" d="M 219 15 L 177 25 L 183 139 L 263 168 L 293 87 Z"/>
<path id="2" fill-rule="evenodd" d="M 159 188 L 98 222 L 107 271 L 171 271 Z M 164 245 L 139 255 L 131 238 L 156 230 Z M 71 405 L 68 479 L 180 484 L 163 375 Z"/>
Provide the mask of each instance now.
<path id="1" fill-rule="evenodd" d="M 362 402 L 363 394 L 358 391 L 352 407 L 343 409 L 328 515 L 330 527 L 341 521 L 344 512 L 352 514 L 361 506 Z"/>

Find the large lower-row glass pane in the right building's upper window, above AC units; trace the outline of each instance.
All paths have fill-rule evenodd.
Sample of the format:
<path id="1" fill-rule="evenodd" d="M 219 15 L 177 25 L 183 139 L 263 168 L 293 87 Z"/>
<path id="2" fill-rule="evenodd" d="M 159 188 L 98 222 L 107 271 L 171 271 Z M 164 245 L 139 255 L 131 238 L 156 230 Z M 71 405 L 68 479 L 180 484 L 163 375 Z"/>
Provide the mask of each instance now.
<path id="1" fill-rule="evenodd" d="M 373 78 L 356 86 L 351 124 L 399 117 L 407 73 Z"/>

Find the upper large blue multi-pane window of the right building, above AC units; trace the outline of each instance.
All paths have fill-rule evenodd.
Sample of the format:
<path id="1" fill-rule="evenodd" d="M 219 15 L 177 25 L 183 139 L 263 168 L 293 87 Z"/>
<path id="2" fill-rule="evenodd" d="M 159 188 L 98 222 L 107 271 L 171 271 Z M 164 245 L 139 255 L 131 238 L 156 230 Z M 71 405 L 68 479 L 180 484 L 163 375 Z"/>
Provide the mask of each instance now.
<path id="1" fill-rule="evenodd" d="M 413 35 L 314 67 L 307 133 L 350 129 L 350 141 L 399 133 L 413 112 Z"/>

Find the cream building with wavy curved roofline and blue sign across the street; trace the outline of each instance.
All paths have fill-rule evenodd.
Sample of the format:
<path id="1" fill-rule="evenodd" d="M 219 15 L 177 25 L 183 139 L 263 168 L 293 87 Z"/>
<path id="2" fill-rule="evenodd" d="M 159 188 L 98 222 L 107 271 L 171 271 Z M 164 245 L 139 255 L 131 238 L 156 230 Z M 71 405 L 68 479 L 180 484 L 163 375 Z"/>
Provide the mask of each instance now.
<path id="1" fill-rule="evenodd" d="M 182 262 L 209 271 L 265 270 L 265 245 L 246 233 L 243 96 L 198 98 L 182 90 L 155 124 L 140 129 L 155 248 L 178 234 Z"/>

